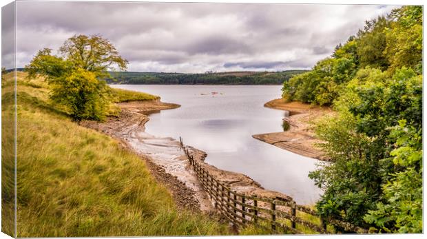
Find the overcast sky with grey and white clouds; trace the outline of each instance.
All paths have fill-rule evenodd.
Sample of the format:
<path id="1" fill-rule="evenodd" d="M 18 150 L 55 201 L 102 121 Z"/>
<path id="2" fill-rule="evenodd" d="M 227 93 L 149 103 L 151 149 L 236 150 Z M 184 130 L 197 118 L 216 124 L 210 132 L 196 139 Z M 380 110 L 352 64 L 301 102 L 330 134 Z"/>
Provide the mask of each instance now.
<path id="1" fill-rule="evenodd" d="M 101 34 L 138 72 L 309 69 L 395 6 L 17 1 L 17 67 L 74 34 Z M 6 23 L 4 22 L 6 21 Z M 8 36 L 3 19 L 3 36 Z M 12 45 L 3 43 L 3 65 Z M 5 61 L 6 60 L 6 61 Z"/>

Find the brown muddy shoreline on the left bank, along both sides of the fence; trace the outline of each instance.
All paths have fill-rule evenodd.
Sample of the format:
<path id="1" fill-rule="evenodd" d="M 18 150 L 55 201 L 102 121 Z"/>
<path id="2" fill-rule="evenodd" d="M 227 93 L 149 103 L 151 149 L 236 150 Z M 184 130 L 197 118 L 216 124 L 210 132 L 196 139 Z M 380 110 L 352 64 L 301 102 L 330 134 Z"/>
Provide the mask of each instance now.
<path id="1" fill-rule="evenodd" d="M 152 136 L 145 132 L 145 123 L 149 121 L 151 112 L 174 109 L 180 105 L 161 101 L 131 101 L 118 103 L 118 106 L 121 107 L 119 116 L 109 117 L 103 123 L 82 121 L 81 125 L 112 136 L 124 147 L 136 152 L 145 160 L 154 178 L 169 189 L 178 207 L 213 213 L 215 209 L 212 202 L 202 189 L 185 153 L 180 149 L 179 141 L 170 137 Z M 292 200 L 285 194 L 262 188 L 249 176 L 209 165 L 205 163 L 207 156 L 205 152 L 191 146 L 189 149 L 194 158 L 199 160 L 211 175 L 234 191 L 250 196 Z"/>

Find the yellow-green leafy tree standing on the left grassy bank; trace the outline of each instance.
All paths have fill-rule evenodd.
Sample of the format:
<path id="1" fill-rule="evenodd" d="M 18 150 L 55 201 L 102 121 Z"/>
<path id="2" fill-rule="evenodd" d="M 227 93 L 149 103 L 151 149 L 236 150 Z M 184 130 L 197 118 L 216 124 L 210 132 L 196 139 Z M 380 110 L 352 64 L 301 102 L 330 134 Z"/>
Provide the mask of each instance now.
<path id="1" fill-rule="evenodd" d="M 76 121 L 102 121 L 110 105 L 110 87 L 101 78 L 110 76 L 107 70 L 125 70 L 127 61 L 98 35 L 75 35 L 59 52 L 55 56 L 49 48 L 39 50 L 25 66 L 28 77 L 44 76 L 52 101 L 63 105 Z"/>

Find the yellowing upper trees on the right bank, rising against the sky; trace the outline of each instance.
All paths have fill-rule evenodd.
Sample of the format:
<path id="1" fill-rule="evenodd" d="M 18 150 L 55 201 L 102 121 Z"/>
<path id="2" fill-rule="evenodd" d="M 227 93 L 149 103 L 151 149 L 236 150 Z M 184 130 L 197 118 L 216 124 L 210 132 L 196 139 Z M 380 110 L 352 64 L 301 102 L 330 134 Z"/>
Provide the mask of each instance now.
<path id="1" fill-rule="evenodd" d="M 282 96 L 291 101 L 332 105 L 333 101 L 365 67 L 393 74 L 410 67 L 422 71 L 422 7 L 404 6 L 387 17 L 366 21 L 356 37 L 337 45 L 332 59 L 324 59 L 310 72 L 284 82 Z"/>

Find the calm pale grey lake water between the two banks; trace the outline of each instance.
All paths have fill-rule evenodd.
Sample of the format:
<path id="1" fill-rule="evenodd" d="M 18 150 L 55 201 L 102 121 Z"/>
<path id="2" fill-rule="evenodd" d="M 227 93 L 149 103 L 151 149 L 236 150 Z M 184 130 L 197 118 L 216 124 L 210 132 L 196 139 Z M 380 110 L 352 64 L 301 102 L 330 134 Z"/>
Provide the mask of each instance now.
<path id="1" fill-rule="evenodd" d="M 252 138 L 283 131 L 285 112 L 264 107 L 280 98 L 280 85 L 112 85 L 156 94 L 181 107 L 151 114 L 146 132 L 183 137 L 186 145 L 207 152 L 206 162 L 240 172 L 265 189 L 280 191 L 300 204 L 321 194 L 308 177 L 318 162 Z M 218 92 L 218 94 L 211 94 Z"/>

